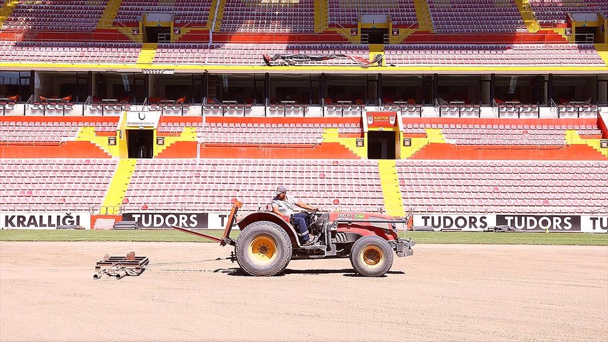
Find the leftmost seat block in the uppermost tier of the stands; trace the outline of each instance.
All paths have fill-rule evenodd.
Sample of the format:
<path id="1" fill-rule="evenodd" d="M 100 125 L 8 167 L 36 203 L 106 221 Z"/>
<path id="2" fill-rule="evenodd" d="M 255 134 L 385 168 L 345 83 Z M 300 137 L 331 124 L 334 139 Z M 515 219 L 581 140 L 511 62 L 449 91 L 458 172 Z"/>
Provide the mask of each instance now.
<path id="1" fill-rule="evenodd" d="M 91 31 L 103 14 L 105 0 L 19 0 L 4 30 Z"/>

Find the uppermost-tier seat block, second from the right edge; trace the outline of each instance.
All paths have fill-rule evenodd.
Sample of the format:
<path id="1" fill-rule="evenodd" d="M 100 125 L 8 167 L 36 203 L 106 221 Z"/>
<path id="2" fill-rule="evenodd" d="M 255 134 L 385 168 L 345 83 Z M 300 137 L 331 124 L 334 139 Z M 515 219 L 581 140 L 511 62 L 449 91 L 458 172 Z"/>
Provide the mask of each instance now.
<path id="1" fill-rule="evenodd" d="M 524 30 L 514 0 L 428 0 L 435 32 L 515 32 Z"/>

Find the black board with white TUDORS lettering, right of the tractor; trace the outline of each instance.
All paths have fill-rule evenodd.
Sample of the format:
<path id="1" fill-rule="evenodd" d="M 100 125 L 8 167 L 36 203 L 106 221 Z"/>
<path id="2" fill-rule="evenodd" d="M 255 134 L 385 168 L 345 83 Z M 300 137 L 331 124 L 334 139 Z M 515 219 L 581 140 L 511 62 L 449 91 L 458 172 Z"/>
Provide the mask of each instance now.
<path id="1" fill-rule="evenodd" d="M 579 215 L 496 215 L 496 225 L 530 232 L 580 232 Z"/>

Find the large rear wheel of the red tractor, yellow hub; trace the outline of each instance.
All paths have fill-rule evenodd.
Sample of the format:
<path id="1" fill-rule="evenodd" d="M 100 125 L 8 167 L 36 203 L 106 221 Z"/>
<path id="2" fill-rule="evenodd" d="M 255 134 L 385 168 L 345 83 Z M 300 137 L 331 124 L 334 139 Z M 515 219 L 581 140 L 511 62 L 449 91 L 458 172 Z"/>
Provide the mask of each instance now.
<path id="1" fill-rule="evenodd" d="M 275 276 L 285 271 L 291 260 L 292 246 L 285 229 L 276 223 L 258 221 L 239 234 L 235 251 L 238 265 L 246 273 Z"/>

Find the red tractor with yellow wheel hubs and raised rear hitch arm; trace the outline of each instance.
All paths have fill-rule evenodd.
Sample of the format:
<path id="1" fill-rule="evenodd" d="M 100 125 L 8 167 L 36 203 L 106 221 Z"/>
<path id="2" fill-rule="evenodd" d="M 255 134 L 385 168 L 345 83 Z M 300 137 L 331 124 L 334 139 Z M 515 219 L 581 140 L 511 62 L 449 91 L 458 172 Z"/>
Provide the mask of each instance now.
<path id="1" fill-rule="evenodd" d="M 174 229 L 235 246 L 238 265 L 253 276 L 282 273 L 292 259 L 350 257 L 354 270 L 362 276 L 382 276 L 397 256 L 412 255 L 413 240 L 398 237 L 394 219 L 370 212 L 309 212 L 309 231 L 316 242 L 303 246 L 294 226 L 274 212 L 259 211 L 237 217 L 241 203 L 233 203 L 221 238 L 174 226 Z M 233 225 L 241 229 L 237 240 L 230 238 Z"/>

